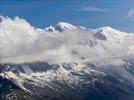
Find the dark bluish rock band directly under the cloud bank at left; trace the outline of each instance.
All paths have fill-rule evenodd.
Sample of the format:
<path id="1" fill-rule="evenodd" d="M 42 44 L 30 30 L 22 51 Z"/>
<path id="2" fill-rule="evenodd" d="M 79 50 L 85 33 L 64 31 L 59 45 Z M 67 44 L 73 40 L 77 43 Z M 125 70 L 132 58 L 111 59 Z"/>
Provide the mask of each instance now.
<path id="1" fill-rule="evenodd" d="M 52 68 L 56 68 L 58 66 L 50 66 L 46 62 L 34 62 L 34 63 L 23 63 L 23 64 L 0 64 L 0 72 L 4 71 L 12 71 L 14 73 L 30 73 L 32 72 L 44 72 Z"/>

